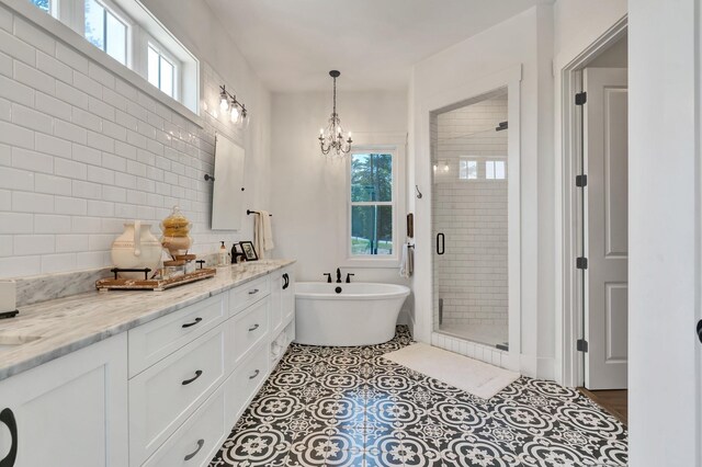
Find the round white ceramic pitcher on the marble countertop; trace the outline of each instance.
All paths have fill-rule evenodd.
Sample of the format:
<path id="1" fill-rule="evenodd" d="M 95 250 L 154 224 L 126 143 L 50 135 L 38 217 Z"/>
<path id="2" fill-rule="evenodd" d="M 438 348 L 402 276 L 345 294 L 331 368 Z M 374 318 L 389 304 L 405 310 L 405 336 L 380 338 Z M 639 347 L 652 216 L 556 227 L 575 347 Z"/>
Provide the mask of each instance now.
<path id="1" fill-rule="evenodd" d="M 161 261 L 161 242 L 151 234 L 150 224 L 140 220 L 124 225 L 124 232 L 112 243 L 112 262 L 120 269 L 149 267 L 152 275 Z M 123 278 L 144 278 L 144 273 L 120 273 Z"/>

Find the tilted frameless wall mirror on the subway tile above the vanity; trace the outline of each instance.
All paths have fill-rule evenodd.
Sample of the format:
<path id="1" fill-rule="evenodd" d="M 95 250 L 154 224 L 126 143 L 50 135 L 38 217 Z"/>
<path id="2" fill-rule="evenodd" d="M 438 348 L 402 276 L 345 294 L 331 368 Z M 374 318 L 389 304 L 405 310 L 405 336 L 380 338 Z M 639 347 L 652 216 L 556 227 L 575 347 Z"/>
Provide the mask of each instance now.
<path id="1" fill-rule="evenodd" d="M 239 230 L 244 205 L 244 148 L 217 135 L 212 193 L 212 229 Z"/>

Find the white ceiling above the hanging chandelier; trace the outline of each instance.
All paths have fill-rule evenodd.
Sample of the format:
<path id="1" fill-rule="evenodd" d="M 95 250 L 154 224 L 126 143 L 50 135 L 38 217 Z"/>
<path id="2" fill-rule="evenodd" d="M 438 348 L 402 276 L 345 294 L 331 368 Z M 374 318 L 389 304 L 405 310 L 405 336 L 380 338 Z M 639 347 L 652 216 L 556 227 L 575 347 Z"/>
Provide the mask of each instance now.
<path id="1" fill-rule="evenodd" d="M 404 89 L 414 64 L 548 0 L 205 0 L 272 91 Z"/>

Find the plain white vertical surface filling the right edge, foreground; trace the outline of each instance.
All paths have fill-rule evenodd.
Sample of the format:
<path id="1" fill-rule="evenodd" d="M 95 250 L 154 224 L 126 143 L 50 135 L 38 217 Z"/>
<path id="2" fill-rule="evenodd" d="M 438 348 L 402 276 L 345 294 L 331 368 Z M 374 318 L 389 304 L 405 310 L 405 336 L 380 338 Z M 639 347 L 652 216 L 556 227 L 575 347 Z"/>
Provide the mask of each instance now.
<path id="1" fill-rule="evenodd" d="M 630 4 L 632 466 L 702 465 L 699 15 L 699 0 Z"/>

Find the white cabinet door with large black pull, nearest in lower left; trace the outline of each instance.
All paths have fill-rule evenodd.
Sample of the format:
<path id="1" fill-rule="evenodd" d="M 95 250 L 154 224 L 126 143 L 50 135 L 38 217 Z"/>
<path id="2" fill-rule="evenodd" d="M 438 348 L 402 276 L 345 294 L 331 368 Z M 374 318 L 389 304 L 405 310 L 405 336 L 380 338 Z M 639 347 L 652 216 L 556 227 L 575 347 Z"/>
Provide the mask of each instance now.
<path id="1" fill-rule="evenodd" d="M 0 459 L 14 443 L 15 467 L 128 465 L 126 344 L 125 332 L 0 381 L 16 422 L 0 428 Z"/>

